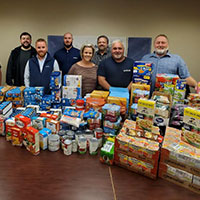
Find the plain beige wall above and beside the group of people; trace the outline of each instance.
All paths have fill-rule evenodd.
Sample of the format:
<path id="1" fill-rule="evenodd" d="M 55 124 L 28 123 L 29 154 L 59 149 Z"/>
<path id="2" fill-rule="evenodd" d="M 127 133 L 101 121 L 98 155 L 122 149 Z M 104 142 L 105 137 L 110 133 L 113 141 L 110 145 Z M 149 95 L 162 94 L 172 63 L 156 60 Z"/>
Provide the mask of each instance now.
<path id="1" fill-rule="evenodd" d="M 152 3 L 153 2 L 153 3 Z M 47 35 L 106 34 L 154 37 L 165 33 L 172 53 L 182 56 L 200 81 L 199 0 L 6 0 L 0 6 L 0 63 L 3 83 L 10 51 L 28 31 L 33 42 Z"/>

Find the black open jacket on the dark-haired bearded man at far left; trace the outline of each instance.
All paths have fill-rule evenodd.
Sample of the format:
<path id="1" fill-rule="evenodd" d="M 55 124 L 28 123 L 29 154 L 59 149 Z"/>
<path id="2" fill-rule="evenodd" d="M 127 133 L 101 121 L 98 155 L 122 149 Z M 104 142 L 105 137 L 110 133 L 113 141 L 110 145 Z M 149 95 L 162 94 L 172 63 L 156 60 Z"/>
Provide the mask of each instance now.
<path id="1" fill-rule="evenodd" d="M 20 66 L 20 51 L 21 46 L 11 51 L 6 72 L 6 83 L 8 85 L 24 85 L 24 73 L 21 73 L 21 71 L 24 71 L 25 66 Z M 35 48 L 31 46 L 31 57 L 36 54 Z M 23 70 L 20 70 L 21 68 L 23 68 Z"/>

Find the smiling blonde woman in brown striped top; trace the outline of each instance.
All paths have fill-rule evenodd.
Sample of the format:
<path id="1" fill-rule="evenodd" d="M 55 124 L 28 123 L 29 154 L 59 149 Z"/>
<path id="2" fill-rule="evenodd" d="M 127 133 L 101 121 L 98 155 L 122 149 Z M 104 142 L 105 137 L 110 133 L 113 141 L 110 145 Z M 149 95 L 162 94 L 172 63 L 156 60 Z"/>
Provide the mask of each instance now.
<path id="1" fill-rule="evenodd" d="M 82 97 L 91 93 L 97 85 L 98 66 L 91 62 L 95 49 L 93 45 L 86 44 L 81 48 L 82 60 L 72 65 L 69 75 L 82 75 Z"/>

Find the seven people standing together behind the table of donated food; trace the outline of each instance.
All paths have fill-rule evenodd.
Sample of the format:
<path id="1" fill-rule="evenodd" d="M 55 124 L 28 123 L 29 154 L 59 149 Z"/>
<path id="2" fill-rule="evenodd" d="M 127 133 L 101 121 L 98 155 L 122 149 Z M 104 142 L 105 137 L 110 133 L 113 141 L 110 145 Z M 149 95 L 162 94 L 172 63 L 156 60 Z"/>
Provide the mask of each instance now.
<path id="1" fill-rule="evenodd" d="M 120 40 L 112 42 L 105 35 L 97 38 L 98 50 L 92 44 L 85 44 L 81 50 L 73 47 L 73 35 L 69 32 L 63 37 L 64 47 L 54 57 L 48 53 L 46 40 L 40 38 L 31 46 L 32 37 L 23 32 L 20 35 L 19 47 L 11 51 L 6 83 L 15 86 L 44 86 L 49 93 L 50 74 L 62 71 L 62 75 L 82 75 L 82 96 L 96 88 L 109 90 L 113 87 L 131 88 L 134 61 L 124 55 L 124 45 Z M 160 34 L 154 40 L 154 52 L 145 55 L 141 60 L 154 64 L 152 90 L 157 73 L 177 74 L 186 79 L 189 86 L 196 87 L 197 82 L 190 76 L 183 59 L 169 53 L 169 40 Z"/>

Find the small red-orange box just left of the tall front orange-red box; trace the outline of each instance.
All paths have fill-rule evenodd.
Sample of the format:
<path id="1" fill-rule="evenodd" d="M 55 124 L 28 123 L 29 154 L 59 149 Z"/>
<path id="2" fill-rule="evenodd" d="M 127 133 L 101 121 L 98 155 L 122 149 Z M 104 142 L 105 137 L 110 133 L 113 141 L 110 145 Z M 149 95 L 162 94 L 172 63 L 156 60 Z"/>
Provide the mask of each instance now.
<path id="1" fill-rule="evenodd" d="M 11 128 L 11 142 L 13 146 L 22 146 L 23 135 L 20 128 Z"/>

